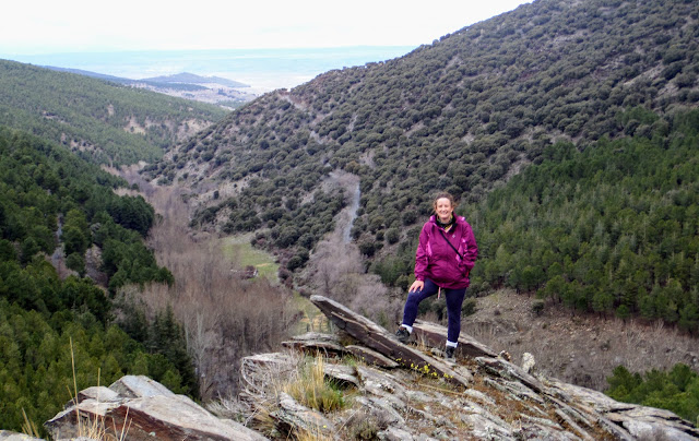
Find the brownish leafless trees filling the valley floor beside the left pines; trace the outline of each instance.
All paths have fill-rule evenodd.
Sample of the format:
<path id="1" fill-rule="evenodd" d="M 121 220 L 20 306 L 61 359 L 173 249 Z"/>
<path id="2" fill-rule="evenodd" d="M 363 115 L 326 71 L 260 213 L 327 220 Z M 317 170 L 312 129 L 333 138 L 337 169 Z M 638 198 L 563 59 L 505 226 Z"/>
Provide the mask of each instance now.
<path id="1" fill-rule="evenodd" d="M 224 255 L 218 238 L 194 237 L 178 189 L 158 189 L 149 201 L 161 215 L 149 246 L 175 283 L 146 286 L 141 301 L 151 317 L 171 306 L 204 401 L 235 393 L 240 359 L 275 348 L 288 336 L 296 321 L 291 291 L 264 278 L 241 279 L 239 259 Z"/>

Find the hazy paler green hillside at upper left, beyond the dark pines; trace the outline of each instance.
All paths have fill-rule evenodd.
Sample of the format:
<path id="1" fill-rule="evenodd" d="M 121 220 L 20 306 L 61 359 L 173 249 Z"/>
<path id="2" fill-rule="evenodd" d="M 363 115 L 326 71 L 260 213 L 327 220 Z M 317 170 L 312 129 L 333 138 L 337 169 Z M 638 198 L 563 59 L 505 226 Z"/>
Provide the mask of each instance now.
<path id="1" fill-rule="evenodd" d="M 116 166 L 156 160 L 225 115 L 213 105 L 5 60 L 0 90 L 0 124 Z"/>

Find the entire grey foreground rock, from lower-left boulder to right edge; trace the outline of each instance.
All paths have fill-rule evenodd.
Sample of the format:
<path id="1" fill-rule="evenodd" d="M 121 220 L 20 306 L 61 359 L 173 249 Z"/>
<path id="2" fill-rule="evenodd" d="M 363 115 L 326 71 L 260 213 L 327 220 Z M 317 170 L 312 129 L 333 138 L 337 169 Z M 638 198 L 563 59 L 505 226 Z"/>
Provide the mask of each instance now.
<path id="1" fill-rule="evenodd" d="M 82 391 L 78 404 L 69 403 L 46 427 L 54 439 L 73 437 L 80 414 L 115 430 L 127 427 L 129 440 L 699 439 L 697 428 L 671 412 L 540 376 L 531 356 L 520 367 L 464 335 L 457 362 L 446 362 L 433 348 L 446 338 L 441 326 L 418 322 L 414 342 L 404 345 L 331 299 L 311 301 L 337 334 L 307 333 L 286 342 L 285 351 L 246 357 L 242 391 L 212 406 L 218 417 L 152 380 L 125 377 Z M 342 396 L 339 408 L 301 404 L 292 392 L 289 384 L 308 380 L 309 366 L 320 368 L 335 398 Z M 317 393 L 315 385 L 306 392 Z"/>

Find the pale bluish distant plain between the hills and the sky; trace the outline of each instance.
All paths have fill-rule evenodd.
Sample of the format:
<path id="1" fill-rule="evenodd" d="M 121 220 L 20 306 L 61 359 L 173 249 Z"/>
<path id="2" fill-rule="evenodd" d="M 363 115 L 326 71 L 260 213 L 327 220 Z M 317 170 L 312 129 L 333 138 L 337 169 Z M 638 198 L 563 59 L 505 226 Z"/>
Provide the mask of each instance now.
<path id="1" fill-rule="evenodd" d="M 292 88 L 334 70 L 386 61 L 412 46 L 4 55 L 0 58 L 140 80 L 190 72 L 239 81 L 253 93 Z"/>

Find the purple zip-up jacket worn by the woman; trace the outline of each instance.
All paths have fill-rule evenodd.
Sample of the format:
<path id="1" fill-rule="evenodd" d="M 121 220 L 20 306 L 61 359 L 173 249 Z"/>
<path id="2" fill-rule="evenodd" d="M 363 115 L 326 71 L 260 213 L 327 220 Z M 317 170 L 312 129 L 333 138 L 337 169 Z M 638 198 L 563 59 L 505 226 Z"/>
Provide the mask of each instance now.
<path id="1" fill-rule="evenodd" d="M 440 229 L 459 254 L 447 243 Z M 465 288 L 469 286 L 469 273 L 477 258 L 478 246 L 473 229 L 464 217 L 457 216 L 454 226 L 446 233 L 437 225 L 435 216 L 431 216 L 419 234 L 415 253 L 415 278 L 429 278 L 442 288 Z"/>

